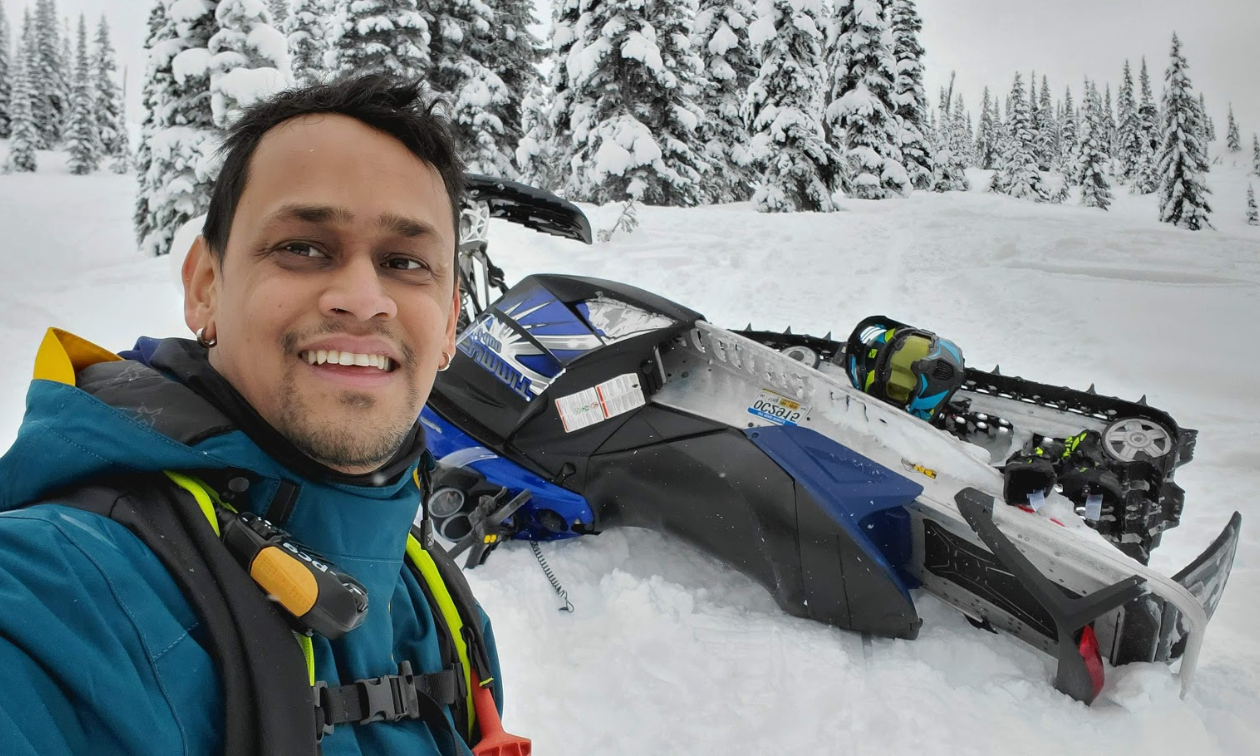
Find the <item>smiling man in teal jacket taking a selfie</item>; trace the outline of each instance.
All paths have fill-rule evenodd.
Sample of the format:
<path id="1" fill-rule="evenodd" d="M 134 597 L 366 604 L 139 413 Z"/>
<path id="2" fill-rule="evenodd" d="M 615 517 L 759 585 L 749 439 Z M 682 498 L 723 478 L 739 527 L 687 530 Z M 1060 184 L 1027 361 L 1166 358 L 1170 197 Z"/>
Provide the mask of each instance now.
<path id="1" fill-rule="evenodd" d="M 184 262 L 197 341 L 120 360 L 49 333 L 0 459 L 0 753 L 417 756 L 494 730 L 489 624 L 408 538 L 455 354 L 451 135 L 383 77 L 262 102 Z"/>

